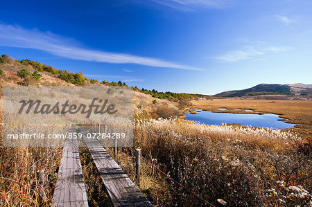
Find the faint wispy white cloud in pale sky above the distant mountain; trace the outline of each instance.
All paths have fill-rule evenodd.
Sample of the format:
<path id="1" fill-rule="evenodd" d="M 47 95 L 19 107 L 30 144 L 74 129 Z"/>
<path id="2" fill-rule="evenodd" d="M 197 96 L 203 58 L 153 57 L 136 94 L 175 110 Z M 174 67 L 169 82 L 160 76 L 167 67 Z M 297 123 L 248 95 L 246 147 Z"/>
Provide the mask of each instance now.
<path id="1" fill-rule="evenodd" d="M 257 57 L 269 53 L 283 53 L 292 50 L 293 48 L 288 46 L 267 46 L 267 47 L 245 46 L 241 50 L 227 51 L 223 55 L 214 57 L 214 59 L 219 60 L 221 62 L 238 62 L 240 60 L 249 59 L 251 57 Z"/>

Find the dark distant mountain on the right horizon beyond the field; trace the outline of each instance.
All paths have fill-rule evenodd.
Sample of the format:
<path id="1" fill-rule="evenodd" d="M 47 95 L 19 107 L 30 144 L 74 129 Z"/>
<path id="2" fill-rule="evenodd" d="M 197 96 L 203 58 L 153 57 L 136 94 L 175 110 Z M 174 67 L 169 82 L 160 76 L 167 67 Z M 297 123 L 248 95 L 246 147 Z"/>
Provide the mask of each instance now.
<path id="1" fill-rule="evenodd" d="M 312 84 L 258 84 L 243 90 L 225 91 L 214 96 L 260 96 L 260 95 L 309 95 L 312 94 Z"/>

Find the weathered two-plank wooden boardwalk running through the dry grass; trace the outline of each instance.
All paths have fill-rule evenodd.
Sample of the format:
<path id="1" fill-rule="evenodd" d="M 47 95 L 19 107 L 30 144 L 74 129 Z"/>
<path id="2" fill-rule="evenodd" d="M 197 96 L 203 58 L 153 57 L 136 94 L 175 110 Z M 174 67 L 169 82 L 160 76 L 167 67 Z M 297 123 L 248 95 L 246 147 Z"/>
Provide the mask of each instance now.
<path id="1" fill-rule="evenodd" d="M 87 137 L 84 127 L 72 126 L 70 132 L 81 132 Z M 153 206 L 97 140 L 85 139 L 84 142 L 113 206 Z M 52 206 L 88 206 L 76 139 L 65 141 Z"/>

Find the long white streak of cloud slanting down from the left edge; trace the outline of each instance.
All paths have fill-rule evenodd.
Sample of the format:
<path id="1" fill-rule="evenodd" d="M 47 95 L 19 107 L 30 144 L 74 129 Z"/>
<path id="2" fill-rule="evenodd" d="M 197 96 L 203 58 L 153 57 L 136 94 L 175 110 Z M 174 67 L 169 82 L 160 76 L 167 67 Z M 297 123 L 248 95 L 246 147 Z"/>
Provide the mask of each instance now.
<path id="1" fill-rule="evenodd" d="M 0 24 L 0 45 L 18 48 L 33 48 L 52 53 L 60 57 L 90 62 L 107 62 L 114 64 L 141 64 L 159 68 L 205 71 L 196 66 L 187 66 L 168 62 L 153 57 L 141 57 L 124 53 L 110 53 L 83 48 L 73 39 L 64 38 L 53 33 L 43 33 L 39 30 L 28 30 L 20 26 Z"/>

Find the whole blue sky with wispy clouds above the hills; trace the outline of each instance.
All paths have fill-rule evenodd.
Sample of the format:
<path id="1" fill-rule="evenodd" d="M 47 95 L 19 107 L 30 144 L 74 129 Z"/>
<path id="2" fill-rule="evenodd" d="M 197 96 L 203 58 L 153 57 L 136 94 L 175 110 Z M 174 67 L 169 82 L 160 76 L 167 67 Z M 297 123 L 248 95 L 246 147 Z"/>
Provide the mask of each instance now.
<path id="1" fill-rule="evenodd" d="M 98 80 L 215 94 L 311 84 L 312 1 L 4 1 L 0 53 Z"/>

